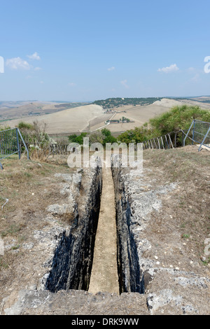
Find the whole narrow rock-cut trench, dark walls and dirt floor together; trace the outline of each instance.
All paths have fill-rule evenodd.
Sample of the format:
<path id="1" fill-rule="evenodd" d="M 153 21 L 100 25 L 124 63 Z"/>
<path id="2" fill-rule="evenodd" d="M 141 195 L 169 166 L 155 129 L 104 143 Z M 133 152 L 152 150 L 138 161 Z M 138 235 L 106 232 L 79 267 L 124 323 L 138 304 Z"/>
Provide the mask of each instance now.
<path id="1" fill-rule="evenodd" d="M 107 170 L 104 169 L 104 173 L 107 174 Z M 102 178 L 102 168 L 99 166 L 90 169 L 90 172 L 89 174 L 84 173 L 86 185 L 81 184 L 78 215 L 74 218 L 69 233 L 64 232 L 59 241 L 52 260 L 52 268 L 45 282 L 45 288 L 52 293 L 69 289 L 86 291 L 90 289 L 92 293 L 97 293 L 97 290 L 112 293 L 141 293 L 141 273 L 137 247 L 130 231 L 130 206 L 123 191 L 123 182 L 120 181 L 120 169 L 109 169 L 109 174 L 106 177 L 104 176 L 104 180 Z M 111 212 L 113 212 L 112 220 L 115 222 L 116 219 L 116 222 L 110 225 L 109 232 L 109 236 L 115 240 L 115 248 L 110 250 L 108 243 L 106 245 L 109 248 L 108 251 L 104 245 L 101 258 L 103 258 L 103 254 L 105 258 L 106 252 L 110 254 L 106 257 L 106 260 L 104 259 L 103 266 L 100 268 L 97 264 L 100 261 L 100 254 L 97 255 L 96 251 L 99 258 L 94 259 L 94 247 L 103 195 L 102 183 L 105 192 L 103 207 L 106 207 L 107 211 L 104 221 L 106 222 L 106 216 L 111 215 Z M 114 185 L 111 188 L 113 191 L 111 201 L 115 204 L 114 211 L 110 211 L 110 195 L 106 195 L 106 193 L 110 193 L 110 190 L 106 189 L 106 185 L 109 183 Z M 104 209 L 101 213 L 103 211 Z M 99 230 L 103 230 L 103 228 L 99 228 Z M 101 235 L 103 235 L 103 232 L 101 232 Z M 107 236 L 104 236 L 104 241 L 106 239 Z M 111 243 L 113 244 L 113 242 Z M 94 272 L 95 268 L 98 272 Z M 105 271 L 110 272 L 109 274 L 113 276 L 109 278 L 107 273 L 105 275 Z M 102 278 L 103 274 L 105 281 Z M 99 276 L 99 280 L 97 280 L 97 276 Z M 115 282 L 113 286 L 111 281 Z M 91 285 L 90 282 L 92 282 Z"/>

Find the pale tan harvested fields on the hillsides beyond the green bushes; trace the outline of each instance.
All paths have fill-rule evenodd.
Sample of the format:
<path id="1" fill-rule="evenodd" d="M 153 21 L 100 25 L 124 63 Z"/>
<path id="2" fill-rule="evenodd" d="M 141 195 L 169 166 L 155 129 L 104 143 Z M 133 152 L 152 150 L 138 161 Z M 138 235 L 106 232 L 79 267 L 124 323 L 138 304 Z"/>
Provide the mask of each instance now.
<path id="1" fill-rule="evenodd" d="M 39 116 L 22 116 L 15 120 L 9 120 L 8 122 L 0 122 L 0 127 L 3 127 L 3 125 L 15 127 L 20 121 L 33 123 L 34 120 L 38 120 L 47 124 L 46 132 L 49 134 L 72 134 L 100 130 L 102 127 L 106 127 L 106 121 L 110 119 L 120 120 L 123 116 L 130 119 L 129 123 L 110 123 L 107 125 L 107 128 L 113 134 L 118 135 L 126 130 L 144 125 L 144 123 L 148 122 L 151 118 L 169 111 L 173 106 L 181 106 L 183 104 L 198 105 L 202 109 L 210 109 L 210 105 L 203 103 L 202 99 L 200 99 L 200 101 L 195 101 L 190 99 L 176 100 L 165 98 L 146 106 L 126 105 L 109 109 L 108 111 L 97 104 L 76 106 L 71 109 L 62 108 L 62 106 L 68 106 L 68 104 L 45 104 L 45 106 L 42 107 L 42 111 L 56 112 Z M 8 111 L 11 111 L 11 109 Z M 37 110 L 34 109 L 34 111 Z M 23 111 L 23 113 L 25 112 Z"/>

